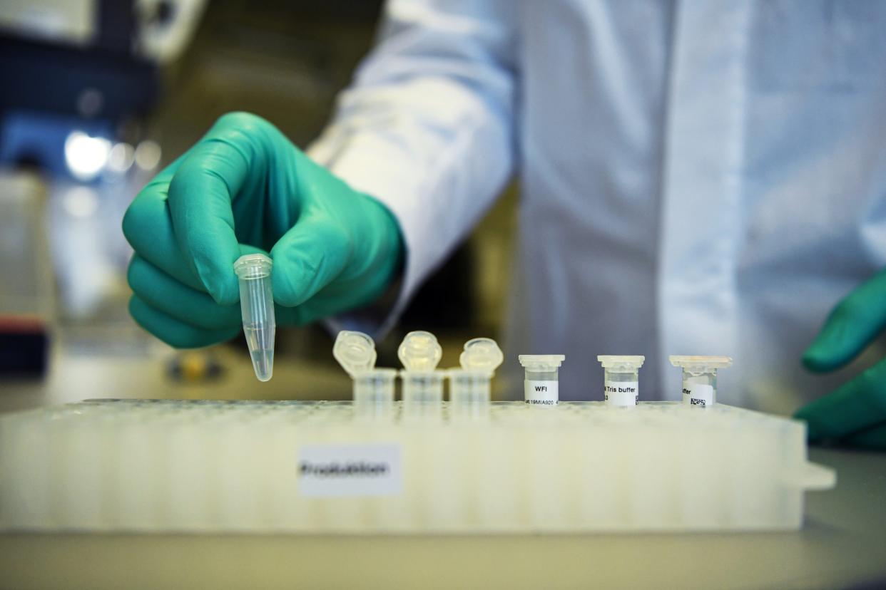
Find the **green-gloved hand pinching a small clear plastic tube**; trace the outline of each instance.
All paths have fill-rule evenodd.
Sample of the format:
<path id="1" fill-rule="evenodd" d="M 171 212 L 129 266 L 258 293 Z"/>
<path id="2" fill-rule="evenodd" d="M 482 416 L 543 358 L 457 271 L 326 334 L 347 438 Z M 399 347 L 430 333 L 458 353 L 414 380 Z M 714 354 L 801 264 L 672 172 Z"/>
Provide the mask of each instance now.
<path id="1" fill-rule="evenodd" d="M 160 172 L 123 218 L 136 250 L 129 312 L 160 340 L 196 348 L 240 330 L 242 254 L 270 253 L 278 324 L 371 303 L 402 257 L 384 205 L 348 187 L 248 113 L 219 119 Z"/>

